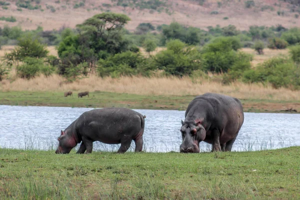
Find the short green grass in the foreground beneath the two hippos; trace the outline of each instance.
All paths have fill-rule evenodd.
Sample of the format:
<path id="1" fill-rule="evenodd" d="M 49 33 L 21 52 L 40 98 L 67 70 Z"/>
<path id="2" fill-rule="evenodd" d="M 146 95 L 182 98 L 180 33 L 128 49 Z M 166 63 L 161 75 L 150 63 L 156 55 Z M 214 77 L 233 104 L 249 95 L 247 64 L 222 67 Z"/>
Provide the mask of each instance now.
<path id="1" fill-rule="evenodd" d="M 0 148 L 0 199 L 297 199 L 299 151 L 55 154 Z"/>

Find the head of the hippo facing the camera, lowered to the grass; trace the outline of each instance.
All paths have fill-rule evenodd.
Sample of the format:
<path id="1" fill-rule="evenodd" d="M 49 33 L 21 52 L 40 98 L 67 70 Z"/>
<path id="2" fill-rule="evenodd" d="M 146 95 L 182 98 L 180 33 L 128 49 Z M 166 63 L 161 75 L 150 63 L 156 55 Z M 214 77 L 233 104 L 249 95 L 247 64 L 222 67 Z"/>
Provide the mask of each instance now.
<path id="1" fill-rule="evenodd" d="M 182 143 L 180 144 L 180 152 L 200 152 L 199 142 L 205 139 L 206 131 L 201 123 L 195 121 L 182 121 L 180 132 L 182 135 Z"/>

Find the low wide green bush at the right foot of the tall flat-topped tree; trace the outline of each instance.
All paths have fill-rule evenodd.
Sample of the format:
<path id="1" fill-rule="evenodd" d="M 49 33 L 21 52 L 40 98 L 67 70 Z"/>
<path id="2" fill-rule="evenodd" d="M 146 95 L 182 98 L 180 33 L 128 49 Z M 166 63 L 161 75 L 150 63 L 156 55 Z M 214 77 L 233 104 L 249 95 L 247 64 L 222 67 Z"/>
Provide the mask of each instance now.
<path id="1" fill-rule="evenodd" d="M 110 55 L 106 59 L 99 59 L 97 72 L 98 75 L 119 77 L 121 75 L 143 75 L 149 72 L 147 59 L 140 53 L 126 51 Z"/>

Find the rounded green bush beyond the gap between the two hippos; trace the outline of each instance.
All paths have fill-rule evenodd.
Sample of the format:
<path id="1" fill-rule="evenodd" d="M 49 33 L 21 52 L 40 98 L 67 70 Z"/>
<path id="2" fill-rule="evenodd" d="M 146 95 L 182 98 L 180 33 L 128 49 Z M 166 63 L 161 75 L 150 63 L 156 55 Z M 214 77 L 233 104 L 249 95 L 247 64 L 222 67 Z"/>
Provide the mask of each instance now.
<path id="1" fill-rule="evenodd" d="M 158 52 L 153 59 L 153 66 L 169 75 L 190 75 L 201 68 L 201 55 L 197 49 L 175 39 L 166 44 L 167 49 Z"/>

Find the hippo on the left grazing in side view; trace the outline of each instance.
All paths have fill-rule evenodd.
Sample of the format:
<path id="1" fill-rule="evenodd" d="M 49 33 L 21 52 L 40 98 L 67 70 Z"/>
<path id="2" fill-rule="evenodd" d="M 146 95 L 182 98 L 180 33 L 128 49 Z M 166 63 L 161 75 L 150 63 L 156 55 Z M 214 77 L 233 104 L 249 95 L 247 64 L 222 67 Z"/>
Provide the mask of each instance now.
<path id="1" fill-rule="evenodd" d="M 77 153 L 91 153 L 92 142 L 101 141 L 107 144 L 118 144 L 117 152 L 125 152 L 133 140 L 135 152 L 142 150 L 144 118 L 146 116 L 123 107 L 92 109 L 83 112 L 57 138 L 55 153 L 69 153 L 81 144 Z M 86 150 L 86 151 L 85 151 Z"/>

